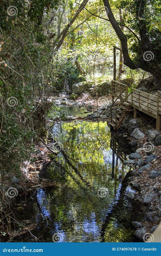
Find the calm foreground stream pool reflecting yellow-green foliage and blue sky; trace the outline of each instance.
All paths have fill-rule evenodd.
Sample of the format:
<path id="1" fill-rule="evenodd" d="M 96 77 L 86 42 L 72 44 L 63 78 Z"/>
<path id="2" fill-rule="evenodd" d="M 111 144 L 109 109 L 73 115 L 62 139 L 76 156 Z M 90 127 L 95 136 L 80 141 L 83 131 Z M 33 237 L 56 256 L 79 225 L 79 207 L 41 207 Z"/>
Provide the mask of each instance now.
<path id="1" fill-rule="evenodd" d="M 126 154 L 114 153 L 122 149 L 111 140 L 106 122 L 64 122 L 54 127 L 53 136 L 66 159 L 59 153 L 41 176 L 59 186 L 37 189 L 17 219 L 33 225 L 32 234 L 42 242 L 136 241 L 132 203 L 125 196 L 130 191 L 129 167 L 122 162 Z M 32 237 L 25 234 L 21 240 Z"/>

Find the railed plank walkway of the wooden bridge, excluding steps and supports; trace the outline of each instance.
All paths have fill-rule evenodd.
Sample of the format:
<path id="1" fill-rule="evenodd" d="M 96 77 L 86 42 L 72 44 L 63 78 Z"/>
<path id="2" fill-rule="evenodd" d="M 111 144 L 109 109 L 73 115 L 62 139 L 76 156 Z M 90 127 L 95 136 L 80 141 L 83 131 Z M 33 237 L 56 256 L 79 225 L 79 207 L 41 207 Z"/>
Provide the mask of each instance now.
<path id="1" fill-rule="evenodd" d="M 120 101 L 125 101 L 135 109 L 153 117 L 157 121 L 157 130 L 161 130 L 161 91 L 155 94 L 130 88 L 118 81 L 113 80 L 111 84 L 112 98 L 119 97 Z M 135 114 L 136 116 L 136 114 Z"/>

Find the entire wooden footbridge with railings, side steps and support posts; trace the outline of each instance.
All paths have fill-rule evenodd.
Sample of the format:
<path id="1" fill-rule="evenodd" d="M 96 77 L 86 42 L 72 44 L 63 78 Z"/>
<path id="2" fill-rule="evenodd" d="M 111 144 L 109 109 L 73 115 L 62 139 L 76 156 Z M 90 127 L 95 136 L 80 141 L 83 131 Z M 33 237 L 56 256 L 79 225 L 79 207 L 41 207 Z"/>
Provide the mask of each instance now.
<path id="1" fill-rule="evenodd" d="M 130 90 L 130 92 L 129 92 Z M 137 117 L 137 110 L 156 119 L 156 129 L 161 130 L 161 91 L 155 94 L 140 91 L 135 88 L 128 88 L 127 85 L 119 81 L 112 80 L 111 83 L 112 106 L 111 125 L 117 131 L 130 111 L 134 112 L 133 117 Z M 115 101 L 114 101 L 114 98 Z M 120 99 L 115 107 L 114 103 Z M 113 118 L 112 113 L 115 113 Z"/>

